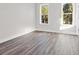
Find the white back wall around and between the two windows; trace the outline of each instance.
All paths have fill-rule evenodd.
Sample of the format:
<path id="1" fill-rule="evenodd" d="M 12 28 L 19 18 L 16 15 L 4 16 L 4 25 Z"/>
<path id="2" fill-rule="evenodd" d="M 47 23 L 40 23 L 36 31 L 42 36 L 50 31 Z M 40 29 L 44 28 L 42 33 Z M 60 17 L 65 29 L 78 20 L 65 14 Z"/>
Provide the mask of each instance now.
<path id="1" fill-rule="evenodd" d="M 40 24 L 40 4 L 37 4 L 36 6 L 36 29 L 41 31 L 49 31 L 49 32 L 60 32 L 60 33 L 67 33 L 67 34 L 76 34 L 76 26 L 74 24 L 73 27 L 66 29 L 66 30 L 60 30 L 60 20 L 62 18 L 61 16 L 61 3 L 50 3 L 49 6 L 49 19 L 48 25 Z"/>

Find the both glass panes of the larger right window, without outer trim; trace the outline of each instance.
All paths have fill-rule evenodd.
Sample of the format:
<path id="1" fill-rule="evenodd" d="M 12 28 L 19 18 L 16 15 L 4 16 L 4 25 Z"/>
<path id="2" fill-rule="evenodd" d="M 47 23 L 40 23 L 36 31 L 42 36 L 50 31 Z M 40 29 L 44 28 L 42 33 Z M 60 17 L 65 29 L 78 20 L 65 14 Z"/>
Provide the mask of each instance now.
<path id="1" fill-rule="evenodd" d="M 72 25 L 73 20 L 73 5 L 72 3 L 63 4 L 63 24 Z"/>

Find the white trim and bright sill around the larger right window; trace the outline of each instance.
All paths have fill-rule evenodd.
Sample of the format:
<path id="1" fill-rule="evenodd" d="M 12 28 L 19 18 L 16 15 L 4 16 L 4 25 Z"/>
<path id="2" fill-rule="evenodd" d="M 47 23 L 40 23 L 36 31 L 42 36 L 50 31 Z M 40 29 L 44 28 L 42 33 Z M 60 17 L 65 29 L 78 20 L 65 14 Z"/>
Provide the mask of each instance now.
<path id="1" fill-rule="evenodd" d="M 66 3 L 64 3 L 66 4 Z M 73 13 L 72 13 L 72 24 L 63 24 L 63 3 L 61 4 L 61 20 L 60 20 L 60 30 L 64 30 L 67 28 L 71 28 L 73 26 L 75 26 L 75 4 L 72 3 L 73 5 Z"/>

